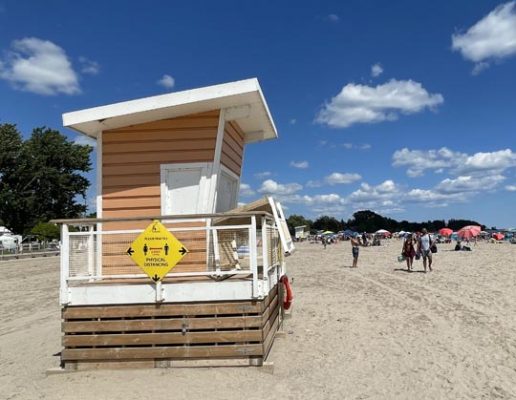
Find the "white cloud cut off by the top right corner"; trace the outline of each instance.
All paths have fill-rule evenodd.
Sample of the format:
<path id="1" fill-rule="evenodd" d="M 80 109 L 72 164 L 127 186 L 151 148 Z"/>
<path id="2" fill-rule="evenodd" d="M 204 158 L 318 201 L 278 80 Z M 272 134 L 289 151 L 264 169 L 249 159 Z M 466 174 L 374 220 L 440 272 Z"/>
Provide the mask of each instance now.
<path id="1" fill-rule="evenodd" d="M 476 63 L 473 73 L 489 62 L 516 54 L 516 1 L 500 4 L 466 33 L 452 35 L 452 49 Z"/>

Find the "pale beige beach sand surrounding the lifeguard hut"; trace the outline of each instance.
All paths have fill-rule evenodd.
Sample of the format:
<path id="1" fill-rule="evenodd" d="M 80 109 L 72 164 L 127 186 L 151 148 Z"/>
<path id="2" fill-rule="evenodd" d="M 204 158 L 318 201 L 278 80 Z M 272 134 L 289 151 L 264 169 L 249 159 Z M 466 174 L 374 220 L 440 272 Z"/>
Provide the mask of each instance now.
<path id="1" fill-rule="evenodd" d="M 516 398 L 516 245 L 441 245 L 435 271 L 400 270 L 401 242 L 303 243 L 295 306 L 259 368 L 88 371 L 58 366 L 58 258 L 0 263 L 1 399 Z M 420 262 L 416 270 L 422 270 Z"/>

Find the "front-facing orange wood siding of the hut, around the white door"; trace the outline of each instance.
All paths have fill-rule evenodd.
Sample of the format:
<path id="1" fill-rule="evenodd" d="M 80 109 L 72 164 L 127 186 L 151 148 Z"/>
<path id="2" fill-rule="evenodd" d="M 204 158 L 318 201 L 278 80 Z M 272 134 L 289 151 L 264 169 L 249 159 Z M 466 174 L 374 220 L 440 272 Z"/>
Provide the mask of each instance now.
<path id="1" fill-rule="evenodd" d="M 219 111 L 153 121 L 102 134 L 102 215 L 104 218 L 161 214 L 161 164 L 213 162 Z M 149 221 L 106 223 L 103 230 L 144 229 Z M 199 223 L 197 223 L 199 225 Z M 183 223 L 181 226 L 190 224 Z M 200 223 L 204 226 L 204 223 Z M 177 225 L 176 225 L 177 226 Z M 205 271 L 206 233 L 174 235 L 190 250 L 174 272 Z M 127 238 L 103 238 L 103 273 L 142 271 L 124 255 Z"/>

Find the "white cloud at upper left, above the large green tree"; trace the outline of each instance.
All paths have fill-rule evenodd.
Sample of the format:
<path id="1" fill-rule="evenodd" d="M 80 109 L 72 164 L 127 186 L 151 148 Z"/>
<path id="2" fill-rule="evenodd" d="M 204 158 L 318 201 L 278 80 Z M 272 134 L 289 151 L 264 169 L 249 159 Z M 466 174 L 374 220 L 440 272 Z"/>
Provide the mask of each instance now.
<path id="1" fill-rule="evenodd" d="M 66 52 L 58 45 L 34 37 L 15 40 L 0 60 L 0 78 L 14 88 L 41 95 L 77 94 L 79 78 Z"/>

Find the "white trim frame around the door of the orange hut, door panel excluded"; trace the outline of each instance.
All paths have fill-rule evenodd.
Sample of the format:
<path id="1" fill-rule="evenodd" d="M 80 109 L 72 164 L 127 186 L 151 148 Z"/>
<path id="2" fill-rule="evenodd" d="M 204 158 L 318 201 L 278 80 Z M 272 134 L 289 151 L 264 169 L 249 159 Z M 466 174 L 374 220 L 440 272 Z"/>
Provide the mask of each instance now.
<path id="1" fill-rule="evenodd" d="M 169 210 L 169 189 L 167 185 L 167 175 L 169 172 L 180 171 L 180 170 L 192 170 L 192 169 L 200 169 L 201 170 L 201 180 L 199 182 L 199 199 L 197 201 L 196 206 L 196 214 L 203 214 L 209 212 L 208 210 L 208 196 L 209 196 L 209 186 L 210 180 L 208 178 L 208 171 L 210 170 L 210 164 L 207 162 L 197 162 L 197 163 L 176 163 L 176 164 L 161 164 L 160 165 L 160 194 L 161 194 L 161 214 L 162 215 L 170 215 L 170 214 L 178 214 L 173 213 Z M 180 213 L 179 213 L 180 214 Z M 196 220 L 196 219 L 194 219 Z M 203 220 L 203 219 L 199 219 Z M 182 220 L 184 222 L 185 220 Z M 166 221 L 162 221 L 166 222 Z"/>

